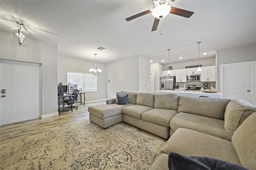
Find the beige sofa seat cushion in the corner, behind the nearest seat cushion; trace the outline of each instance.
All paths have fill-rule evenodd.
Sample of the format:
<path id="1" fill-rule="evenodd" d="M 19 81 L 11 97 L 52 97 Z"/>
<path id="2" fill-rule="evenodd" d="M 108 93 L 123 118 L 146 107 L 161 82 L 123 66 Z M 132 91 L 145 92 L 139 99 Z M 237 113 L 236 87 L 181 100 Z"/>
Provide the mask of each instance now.
<path id="1" fill-rule="evenodd" d="M 231 141 L 224 129 L 224 121 L 219 119 L 180 112 L 171 119 L 170 128 L 175 131 L 180 127 Z"/>

